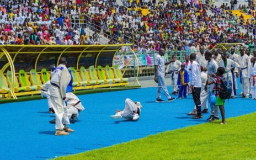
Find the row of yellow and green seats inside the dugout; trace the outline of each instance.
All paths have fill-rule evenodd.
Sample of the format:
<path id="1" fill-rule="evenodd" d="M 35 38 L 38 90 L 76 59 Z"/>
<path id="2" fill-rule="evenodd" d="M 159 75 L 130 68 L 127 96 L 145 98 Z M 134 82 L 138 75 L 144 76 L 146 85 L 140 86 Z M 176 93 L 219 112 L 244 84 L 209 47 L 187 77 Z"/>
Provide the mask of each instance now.
<path id="1" fill-rule="evenodd" d="M 101 87 L 114 87 L 114 86 L 126 86 L 129 84 L 128 78 L 122 78 L 122 73 L 118 66 L 102 68 L 97 67 L 95 70 L 94 66 L 90 66 L 88 70 L 81 67 L 78 71 L 74 67 L 70 68 L 73 77 L 73 89 L 87 89 L 87 88 L 101 88 Z M 6 76 L 0 73 L 0 94 L 7 94 L 9 92 L 11 84 L 12 73 L 7 71 Z M 42 68 L 41 74 L 36 73 L 35 70 L 31 70 L 29 75 L 24 71 L 20 70 L 18 77 L 14 77 L 14 92 L 31 92 L 40 91 L 42 84 L 50 80 L 50 73 L 45 68 Z M 34 94 L 40 92 L 33 92 Z M 25 95 L 25 94 L 20 94 Z"/>

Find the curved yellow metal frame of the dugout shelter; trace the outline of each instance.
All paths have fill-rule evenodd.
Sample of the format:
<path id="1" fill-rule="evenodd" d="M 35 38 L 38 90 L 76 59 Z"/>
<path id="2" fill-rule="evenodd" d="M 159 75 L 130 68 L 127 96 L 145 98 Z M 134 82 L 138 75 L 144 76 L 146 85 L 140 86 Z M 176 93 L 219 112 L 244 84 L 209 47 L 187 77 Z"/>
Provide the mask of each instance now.
<path id="1" fill-rule="evenodd" d="M 38 65 L 38 61 L 41 57 L 42 54 L 60 54 L 58 55 L 58 59 L 57 59 L 57 64 L 60 61 L 60 58 L 63 54 L 72 54 L 72 53 L 79 53 L 78 57 L 77 57 L 77 62 L 76 62 L 76 68 L 78 70 L 78 65 L 79 65 L 79 61 L 82 57 L 83 54 L 86 54 L 87 52 L 98 52 L 98 54 L 95 57 L 95 68 L 97 68 L 97 62 L 98 62 L 98 58 L 100 57 L 100 55 L 102 54 L 102 52 L 115 52 L 114 56 L 116 55 L 116 53 L 121 49 L 121 47 L 123 46 L 129 46 L 129 49 L 132 51 L 132 53 L 134 54 L 136 63 L 137 63 L 137 74 L 136 74 L 136 78 L 135 81 L 132 85 L 134 85 L 136 82 L 138 83 L 137 77 L 138 77 L 138 60 L 137 60 L 137 56 L 135 54 L 135 52 L 131 49 L 132 44 L 119 44 L 119 45 L 75 45 L 75 46 L 71 46 L 71 45 L 0 45 L 0 59 L 3 56 L 7 57 L 7 63 L 1 68 L 1 72 L 4 73 L 4 71 L 6 71 L 6 69 L 10 66 L 10 71 L 12 72 L 12 78 L 11 80 L 11 86 L 10 86 L 10 91 L 8 94 L 4 94 L 4 95 L 0 95 L 0 97 L 5 97 L 5 98 L 14 98 L 17 99 L 17 96 L 19 95 L 34 95 L 34 94 L 39 94 L 40 90 L 36 90 L 36 91 L 30 91 L 30 92 L 20 92 L 20 93 L 15 93 L 14 92 L 14 87 L 15 87 L 15 59 L 19 54 L 37 54 L 36 56 L 36 60 L 35 60 L 35 64 L 34 64 L 34 69 L 36 70 L 37 65 Z M 111 48 L 112 47 L 112 48 Z M 37 49 L 36 48 L 40 48 Z M 46 51 L 47 49 L 52 48 L 52 51 Z M 55 48 L 58 50 L 55 51 Z M 62 48 L 62 49 L 61 49 Z M 77 48 L 81 48 L 81 49 L 77 49 Z M 95 49 L 94 49 L 95 48 Z M 97 50 L 98 48 L 98 50 Z M 99 49 L 100 48 L 100 49 Z M 24 51 L 24 49 L 26 49 L 27 51 Z M 71 50 L 68 50 L 71 49 Z M 72 49 L 74 49 L 74 51 L 72 51 Z M 90 49 L 90 50 L 89 50 Z M 36 51 L 35 51 L 36 50 Z M 68 50 L 68 51 L 67 51 Z M 12 56 L 13 58 L 12 58 Z M 124 55 L 126 55 L 126 53 L 124 53 Z M 123 55 L 123 56 L 124 56 Z M 114 58 L 113 56 L 113 58 Z M 122 56 L 122 57 L 123 57 Z M 112 61 L 112 65 L 113 65 Z M 126 67 L 127 68 L 127 67 Z M 126 71 L 125 68 L 125 71 Z M 126 86 L 128 85 L 129 82 L 125 82 L 125 83 L 119 83 L 119 84 L 104 84 L 104 85 L 95 85 L 95 86 L 86 86 L 86 87 L 74 87 L 74 90 L 76 89 L 89 89 L 89 88 L 102 88 L 102 87 L 114 87 L 114 86 Z M 140 85 L 140 83 L 138 83 Z"/>

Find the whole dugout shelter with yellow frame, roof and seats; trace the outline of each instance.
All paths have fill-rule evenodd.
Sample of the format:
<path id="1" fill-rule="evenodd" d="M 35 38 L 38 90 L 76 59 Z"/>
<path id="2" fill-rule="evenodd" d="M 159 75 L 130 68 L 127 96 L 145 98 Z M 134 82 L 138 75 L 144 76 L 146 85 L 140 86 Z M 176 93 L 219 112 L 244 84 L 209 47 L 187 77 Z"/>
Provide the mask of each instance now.
<path id="1" fill-rule="evenodd" d="M 116 53 L 125 46 L 134 54 L 134 63 L 137 63 L 134 66 L 138 71 L 137 57 L 131 45 L 2 45 L 0 97 L 17 99 L 22 95 L 40 94 L 42 84 L 50 79 L 51 65 L 57 66 L 62 56 L 67 58 L 67 68 L 72 71 L 73 90 L 128 86 L 129 79 L 122 78 L 113 62 Z M 126 52 L 122 53 L 124 57 Z M 111 74 L 106 73 L 106 66 Z M 137 77 L 132 86 L 136 82 L 140 85 Z"/>

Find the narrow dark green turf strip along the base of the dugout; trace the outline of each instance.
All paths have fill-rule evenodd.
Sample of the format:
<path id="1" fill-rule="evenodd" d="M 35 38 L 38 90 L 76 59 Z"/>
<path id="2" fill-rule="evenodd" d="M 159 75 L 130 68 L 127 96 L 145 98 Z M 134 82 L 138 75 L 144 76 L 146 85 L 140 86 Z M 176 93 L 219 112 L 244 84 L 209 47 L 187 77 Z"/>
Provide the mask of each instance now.
<path id="1" fill-rule="evenodd" d="M 73 93 L 76 94 L 76 95 L 82 95 L 82 94 L 114 92 L 114 91 L 118 91 L 118 90 L 138 89 L 138 88 L 141 88 L 141 86 L 84 89 L 84 90 L 76 90 Z M 23 97 L 18 97 L 18 99 L 0 99 L 0 104 L 2 104 L 2 103 L 13 103 L 13 102 L 24 102 L 24 101 L 27 101 L 27 100 L 38 100 L 38 99 L 42 99 L 41 95 L 23 96 Z"/>

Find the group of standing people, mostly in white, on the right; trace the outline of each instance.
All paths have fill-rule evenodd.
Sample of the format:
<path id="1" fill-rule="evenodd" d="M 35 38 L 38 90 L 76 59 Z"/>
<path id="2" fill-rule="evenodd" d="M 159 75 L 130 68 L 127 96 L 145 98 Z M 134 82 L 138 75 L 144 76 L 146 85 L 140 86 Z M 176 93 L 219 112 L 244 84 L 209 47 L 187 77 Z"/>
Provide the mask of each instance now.
<path id="1" fill-rule="evenodd" d="M 209 112 L 207 106 L 207 102 L 209 102 L 211 115 L 207 120 L 215 121 L 219 119 L 219 106 L 222 124 L 226 124 L 225 99 L 221 98 L 219 94 L 222 92 L 224 79 L 232 84 L 231 98 L 237 97 L 237 77 L 239 77 L 242 98 L 249 98 L 251 93 L 252 99 L 256 99 L 256 66 L 254 65 L 256 50 L 253 51 L 253 55 L 250 55 L 250 50 L 244 49 L 242 46 L 239 48 L 239 55 L 237 55 L 235 52 L 238 51 L 238 48 L 236 47 L 232 47 L 230 53 L 222 49 L 204 51 L 204 48 L 200 47 L 200 52 L 186 56 L 184 63 L 176 60 L 175 55 L 172 56 L 172 60 L 164 63 L 164 51 L 164 49 L 159 51 L 154 64 L 156 67 L 154 81 L 158 83 L 156 102 L 164 102 L 161 99 L 161 89 L 164 90 L 168 101 L 175 99 L 169 95 L 164 77 L 166 73 L 171 73 L 171 86 L 174 95 L 179 93 L 179 98 L 182 98 L 182 96 L 186 98 L 186 91 L 191 89 L 195 108 L 188 115 L 193 115 L 194 119 L 202 118 L 202 113 Z M 168 65 L 167 70 L 165 70 L 165 65 Z M 212 102 L 212 94 L 215 98 L 214 102 Z"/>

